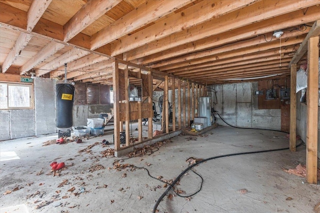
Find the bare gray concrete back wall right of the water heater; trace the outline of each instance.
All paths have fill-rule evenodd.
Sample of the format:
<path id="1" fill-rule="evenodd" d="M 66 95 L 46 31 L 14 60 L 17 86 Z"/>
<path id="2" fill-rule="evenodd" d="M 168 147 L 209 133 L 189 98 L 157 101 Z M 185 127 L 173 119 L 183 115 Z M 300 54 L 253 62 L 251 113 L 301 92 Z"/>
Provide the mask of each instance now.
<path id="1" fill-rule="evenodd" d="M 281 129 L 280 109 L 257 109 L 257 83 L 236 83 L 212 86 L 214 109 L 229 124 L 238 127 Z M 217 118 L 219 125 L 226 124 Z"/>

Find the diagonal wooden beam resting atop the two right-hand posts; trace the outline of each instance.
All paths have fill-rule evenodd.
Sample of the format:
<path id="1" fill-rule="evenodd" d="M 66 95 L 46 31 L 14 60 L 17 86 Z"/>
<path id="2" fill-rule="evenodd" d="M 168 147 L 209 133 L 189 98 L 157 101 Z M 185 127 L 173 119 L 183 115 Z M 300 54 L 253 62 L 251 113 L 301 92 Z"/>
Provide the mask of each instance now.
<path id="1" fill-rule="evenodd" d="M 295 55 L 290 61 L 289 67 L 291 66 L 291 64 L 296 64 L 300 60 L 300 58 L 304 55 L 304 53 L 306 53 L 309 38 L 319 36 L 319 35 L 320 35 L 320 20 L 317 20 L 313 23 L 305 39 L 302 41 L 299 49 L 296 51 Z"/>

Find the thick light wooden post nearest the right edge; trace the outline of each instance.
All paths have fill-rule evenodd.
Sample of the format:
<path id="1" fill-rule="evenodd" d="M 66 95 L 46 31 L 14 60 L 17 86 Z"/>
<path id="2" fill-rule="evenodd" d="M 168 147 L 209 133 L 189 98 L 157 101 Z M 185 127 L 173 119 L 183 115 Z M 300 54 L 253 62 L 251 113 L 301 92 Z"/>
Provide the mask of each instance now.
<path id="1" fill-rule="evenodd" d="M 308 41 L 308 80 L 306 93 L 306 181 L 317 183 L 319 37 Z"/>

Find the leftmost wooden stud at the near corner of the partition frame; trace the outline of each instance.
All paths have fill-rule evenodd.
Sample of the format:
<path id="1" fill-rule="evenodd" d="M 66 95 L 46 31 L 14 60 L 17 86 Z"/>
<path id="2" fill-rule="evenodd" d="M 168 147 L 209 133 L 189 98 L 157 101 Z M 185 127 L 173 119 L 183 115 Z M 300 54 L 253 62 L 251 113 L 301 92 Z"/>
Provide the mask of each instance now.
<path id="1" fill-rule="evenodd" d="M 120 149 L 120 131 L 119 131 L 119 67 L 118 62 L 112 62 L 112 87 L 113 87 L 113 134 L 114 134 L 114 151 Z"/>

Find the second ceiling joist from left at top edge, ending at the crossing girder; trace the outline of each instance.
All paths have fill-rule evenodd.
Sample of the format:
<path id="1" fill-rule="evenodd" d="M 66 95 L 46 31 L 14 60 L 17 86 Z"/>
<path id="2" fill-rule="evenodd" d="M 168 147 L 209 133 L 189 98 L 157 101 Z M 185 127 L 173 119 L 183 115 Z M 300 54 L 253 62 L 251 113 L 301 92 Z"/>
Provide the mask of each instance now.
<path id="1" fill-rule="evenodd" d="M 63 26 L 63 41 L 68 41 L 121 0 L 89 0 Z"/>

